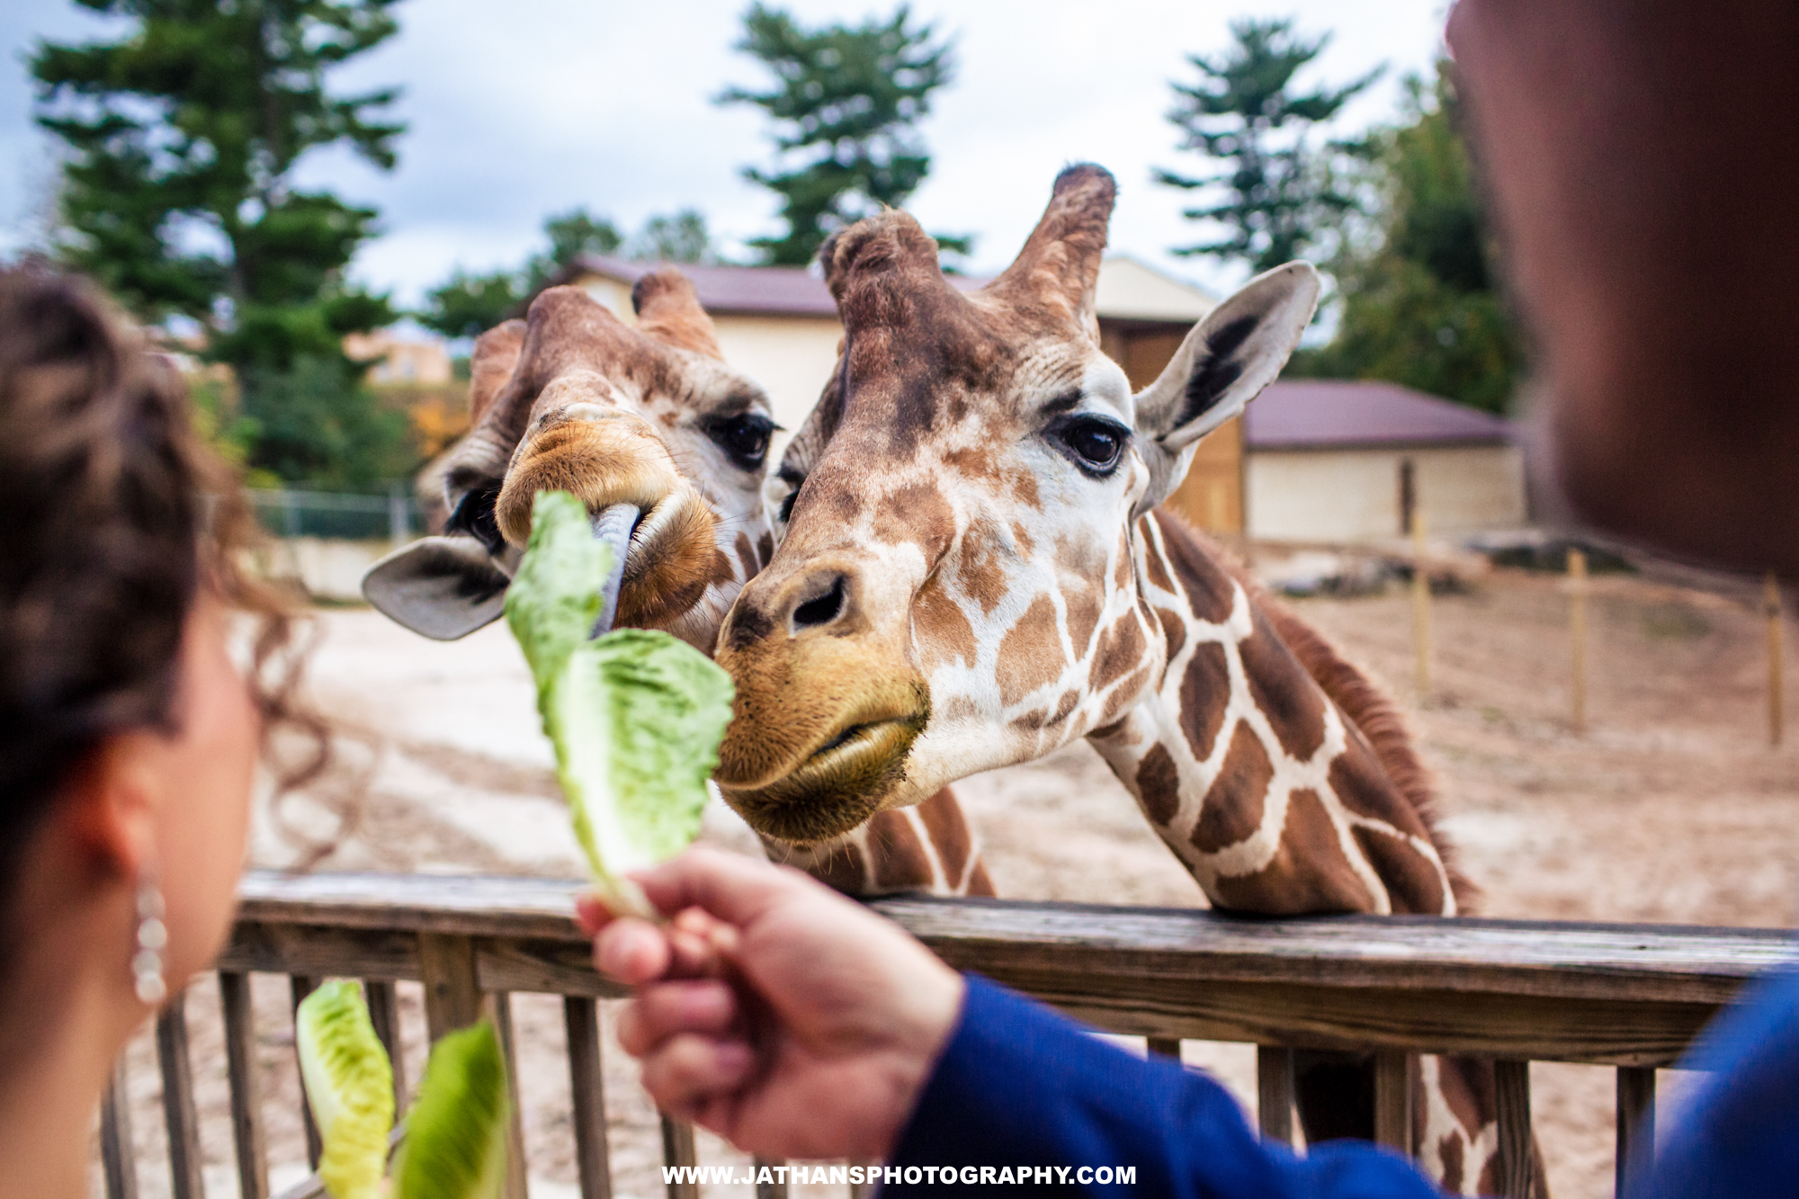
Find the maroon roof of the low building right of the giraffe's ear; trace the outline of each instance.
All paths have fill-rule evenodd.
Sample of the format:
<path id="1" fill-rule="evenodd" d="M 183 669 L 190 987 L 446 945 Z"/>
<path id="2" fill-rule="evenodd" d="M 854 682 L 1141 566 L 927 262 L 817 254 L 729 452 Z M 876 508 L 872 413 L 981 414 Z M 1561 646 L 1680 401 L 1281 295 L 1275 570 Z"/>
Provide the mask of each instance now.
<path id="1" fill-rule="evenodd" d="M 1373 445 L 1493 445 L 1511 421 L 1382 382 L 1281 380 L 1243 418 L 1252 450 Z"/>

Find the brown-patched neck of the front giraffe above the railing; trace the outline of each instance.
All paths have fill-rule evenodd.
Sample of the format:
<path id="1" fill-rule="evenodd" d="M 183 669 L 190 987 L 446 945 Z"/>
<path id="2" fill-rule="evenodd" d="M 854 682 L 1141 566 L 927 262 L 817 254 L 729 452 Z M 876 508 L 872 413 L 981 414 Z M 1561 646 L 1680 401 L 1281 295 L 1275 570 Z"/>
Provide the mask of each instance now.
<path id="1" fill-rule="evenodd" d="M 1455 915 L 1425 808 L 1333 699 L 1342 681 L 1320 672 L 1328 693 L 1290 645 L 1311 657 L 1328 652 L 1322 637 L 1178 518 L 1142 517 L 1135 542 L 1168 666 L 1090 740 L 1207 898 L 1265 915 Z M 1335 655 L 1329 666 L 1349 672 Z"/>

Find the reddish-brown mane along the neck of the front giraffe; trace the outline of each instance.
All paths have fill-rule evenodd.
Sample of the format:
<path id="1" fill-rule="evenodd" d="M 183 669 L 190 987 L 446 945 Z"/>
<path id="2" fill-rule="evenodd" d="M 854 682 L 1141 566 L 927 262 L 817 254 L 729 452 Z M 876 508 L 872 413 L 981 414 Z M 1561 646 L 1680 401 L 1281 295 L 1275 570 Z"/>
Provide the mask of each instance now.
<path id="1" fill-rule="evenodd" d="M 1437 780 L 1430 767 L 1418 756 L 1412 731 L 1400 706 L 1392 702 L 1392 697 L 1365 670 L 1349 663 L 1324 634 L 1295 616 L 1290 607 L 1263 587 L 1261 580 L 1250 574 L 1236 554 L 1225 551 L 1223 545 L 1186 520 L 1182 524 L 1249 592 L 1250 601 L 1266 614 L 1274 632 L 1293 652 L 1293 657 L 1311 675 L 1311 681 L 1319 684 L 1319 690 L 1369 740 L 1382 771 L 1387 772 L 1398 792 L 1418 812 L 1418 819 L 1430 835 L 1430 844 L 1436 848 L 1437 857 L 1443 859 L 1443 870 L 1450 879 L 1450 891 L 1455 895 L 1455 911 L 1463 916 L 1475 915 L 1481 902 L 1481 888 L 1461 871 L 1455 843 L 1437 826 L 1443 816 Z"/>

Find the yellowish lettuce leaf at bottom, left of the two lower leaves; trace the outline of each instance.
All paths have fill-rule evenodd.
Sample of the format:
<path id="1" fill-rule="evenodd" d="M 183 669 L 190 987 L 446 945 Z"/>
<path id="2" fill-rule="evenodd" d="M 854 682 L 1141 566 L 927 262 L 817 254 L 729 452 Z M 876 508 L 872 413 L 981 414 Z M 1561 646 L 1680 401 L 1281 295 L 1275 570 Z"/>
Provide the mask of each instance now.
<path id="1" fill-rule="evenodd" d="M 394 1129 L 394 1068 L 358 983 L 326 983 L 300 1001 L 293 1037 L 324 1141 L 318 1177 L 331 1199 L 380 1199 Z"/>

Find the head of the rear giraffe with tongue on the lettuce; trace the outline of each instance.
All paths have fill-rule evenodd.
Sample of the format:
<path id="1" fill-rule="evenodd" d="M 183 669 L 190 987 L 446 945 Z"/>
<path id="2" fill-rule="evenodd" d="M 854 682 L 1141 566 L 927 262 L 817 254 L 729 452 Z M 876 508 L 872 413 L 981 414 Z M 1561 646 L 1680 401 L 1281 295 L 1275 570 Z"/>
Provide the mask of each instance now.
<path id="1" fill-rule="evenodd" d="M 369 571 L 363 594 L 452 639 L 495 619 L 538 491 L 599 513 L 631 504 L 617 625 L 711 652 L 725 609 L 774 542 L 761 484 L 775 428 L 761 387 L 725 365 L 693 284 L 657 270 L 631 290 L 637 328 L 579 288 L 477 340 L 471 428 L 443 466 L 450 522 Z"/>

